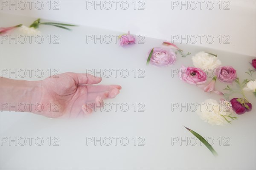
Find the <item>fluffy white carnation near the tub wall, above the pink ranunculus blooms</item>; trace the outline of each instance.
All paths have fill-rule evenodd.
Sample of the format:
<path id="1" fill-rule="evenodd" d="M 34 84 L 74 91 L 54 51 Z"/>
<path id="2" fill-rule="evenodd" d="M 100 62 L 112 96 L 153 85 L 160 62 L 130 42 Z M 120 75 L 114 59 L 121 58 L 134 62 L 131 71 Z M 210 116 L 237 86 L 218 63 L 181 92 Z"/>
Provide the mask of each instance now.
<path id="1" fill-rule="evenodd" d="M 192 57 L 192 61 L 195 67 L 204 69 L 204 71 L 208 69 L 213 70 L 221 65 L 221 60 L 219 60 L 218 57 L 204 51 L 195 54 L 195 56 Z"/>

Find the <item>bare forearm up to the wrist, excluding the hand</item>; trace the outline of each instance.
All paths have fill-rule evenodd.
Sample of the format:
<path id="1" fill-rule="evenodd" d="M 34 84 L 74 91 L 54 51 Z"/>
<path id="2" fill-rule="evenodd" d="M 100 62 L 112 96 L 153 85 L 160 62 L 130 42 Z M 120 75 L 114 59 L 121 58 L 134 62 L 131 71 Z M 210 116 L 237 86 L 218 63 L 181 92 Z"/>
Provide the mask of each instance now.
<path id="1" fill-rule="evenodd" d="M 41 107 L 40 99 L 41 81 L 14 80 L 0 77 L 1 111 L 35 113 Z"/>

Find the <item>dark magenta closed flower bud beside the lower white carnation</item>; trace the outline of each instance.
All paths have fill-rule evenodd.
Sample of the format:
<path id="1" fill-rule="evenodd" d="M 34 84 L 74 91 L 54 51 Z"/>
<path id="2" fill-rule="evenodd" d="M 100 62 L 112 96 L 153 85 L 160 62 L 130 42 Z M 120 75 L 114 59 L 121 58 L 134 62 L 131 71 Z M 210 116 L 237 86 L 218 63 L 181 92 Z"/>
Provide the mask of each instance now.
<path id="1" fill-rule="evenodd" d="M 252 110 L 252 104 L 242 98 L 233 98 L 230 103 L 236 114 L 244 114 Z"/>

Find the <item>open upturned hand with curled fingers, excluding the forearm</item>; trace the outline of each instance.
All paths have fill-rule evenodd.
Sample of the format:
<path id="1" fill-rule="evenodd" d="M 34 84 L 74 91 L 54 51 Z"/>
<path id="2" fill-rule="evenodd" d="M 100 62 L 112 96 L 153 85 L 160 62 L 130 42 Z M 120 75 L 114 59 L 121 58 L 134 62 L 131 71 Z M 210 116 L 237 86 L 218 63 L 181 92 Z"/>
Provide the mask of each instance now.
<path id="1" fill-rule="evenodd" d="M 119 85 L 94 85 L 101 80 L 90 74 L 71 72 L 44 79 L 41 81 L 41 105 L 34 112 L 51 118 L 90 114 L 92 106 L 102 107 L 103 99 L 114 98 L 121 89 Z"/>

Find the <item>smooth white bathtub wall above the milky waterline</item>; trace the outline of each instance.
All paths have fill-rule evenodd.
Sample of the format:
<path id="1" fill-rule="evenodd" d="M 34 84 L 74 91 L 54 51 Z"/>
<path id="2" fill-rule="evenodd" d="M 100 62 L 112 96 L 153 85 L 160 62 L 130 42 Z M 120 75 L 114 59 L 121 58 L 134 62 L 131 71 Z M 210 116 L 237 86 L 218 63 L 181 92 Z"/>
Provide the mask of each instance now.
<path id="1" fill-rule="evenodd" d="M 111 2 L 109 10 L 109 3 L 105 1 L 97 3 L 86 0 L 62 0 L 58 3 L 52 1 L 50 10 L 48 0 L 41 1 L 44 4 L 42 8 L 41 3 L 36 3 L 36 1 L 31 3 L 31 9 L 26 1 L 26 8 L 23 7 L 23 3 L 20 5 L 17 3 L 17 10 L 15 6 L 10 6 L 10 10 L 10 3 L 7 2 L 8 5 L 1 7 L 1 11 L 116 31 L 130 30 L 133 34 L 170 41 L 175 35 L 178 37 L 195 35 L 198 40 L 191 40 L 195 42 L 195 45 L 210 46 L 250 56 L 256 55 L 255 0 L 213 0 L 201 3 L 197 0 L 193 3 L 191 1 L 145 0 L 137 1 L 135 10 L 133 0 L 126 1 L 128 3 L 126 10 L 123 10 L 126 8 L 124 1 L 116 2 L 116 9 L 115 3 L 108 1 Z M 92 6 L 90 6 L 91 2 Z M 102 5 L 96 6 L 96 4 Z M 182 6 L 182 4 L 186 5 Z M 140 6 L 144 10 L 139 10 Z M 54 7 L 59 9 L 53 10 Z M 205 36 L 202 42 L 198 35 Z M 212 35 L 215 39 L 212 44 L 206 40 L 208 35 Z M 226 38 L 222 38 L 220 43 L 219 35 L 222 37 L 228 35 L 230 44 L 223 44 Z M 180 43 L 180 38 L 175 42 Z M 211 42 L 210 39 L 209 42 Z M 186 42 L 182 41 L 182 43 Z"/>

